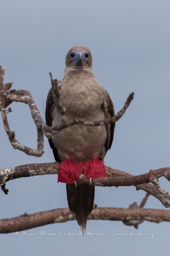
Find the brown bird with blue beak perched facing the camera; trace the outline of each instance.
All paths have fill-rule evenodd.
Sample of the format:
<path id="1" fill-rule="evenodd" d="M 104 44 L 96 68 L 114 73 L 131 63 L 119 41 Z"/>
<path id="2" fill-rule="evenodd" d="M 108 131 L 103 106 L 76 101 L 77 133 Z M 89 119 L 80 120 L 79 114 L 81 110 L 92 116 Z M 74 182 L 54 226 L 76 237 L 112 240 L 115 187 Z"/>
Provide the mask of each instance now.
<path id="1" fill-rule="evenodd" d="M 113 102 L 92 73 L 92 55 L 86 47 L 76 46 L 68 51 L 59 94 L 62 105 L 66 108 L 68 121 L 75 118 L 94 121 L 114 116 Z M 59 124 L 60 114 L 53 101 L 52 88 L 47 97 L 45 119 L 49 126 Z M 78 165 L 93 161 L 96 156 L 98 160 L 103 160 L 111 148 L 114 128 L 115 123 L 95 127 L 77 124 L 59 131 L 49 140 L 55 160 L 63 162 L 71 159 Z M 77 169 L 72 169 L 69 169 L 69 173 L 71 172 L 72 176 L 76 175 Z M 101 176 L 98 167 L 94 172 L 96 175 L 93 176 Z M 88 215 L 93 209 L 94 186 L 75 186 L 75 182 L 69 183 L 66 184 L 68 206 L 84 234 Z"/>

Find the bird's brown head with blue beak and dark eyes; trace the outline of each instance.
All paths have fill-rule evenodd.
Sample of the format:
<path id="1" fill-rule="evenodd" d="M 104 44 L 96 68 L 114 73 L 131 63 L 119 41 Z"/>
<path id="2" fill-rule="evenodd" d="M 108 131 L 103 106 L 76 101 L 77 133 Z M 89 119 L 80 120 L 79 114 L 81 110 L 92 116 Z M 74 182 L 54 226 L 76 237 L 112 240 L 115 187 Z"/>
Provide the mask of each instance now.
<path id="1" fill-rule="evenodd" d="M 74 69 L 91 70 L 92 55 L 90 50 L 82 46 L 71 48 L 66 55 L 65 66 Z"/>

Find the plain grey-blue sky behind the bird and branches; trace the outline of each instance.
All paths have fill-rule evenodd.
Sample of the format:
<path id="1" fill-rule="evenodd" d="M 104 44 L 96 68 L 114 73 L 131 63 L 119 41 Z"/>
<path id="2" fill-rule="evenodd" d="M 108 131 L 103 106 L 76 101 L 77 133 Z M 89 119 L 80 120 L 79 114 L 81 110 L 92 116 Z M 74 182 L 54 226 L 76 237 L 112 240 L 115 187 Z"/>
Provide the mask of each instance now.
<path id="1" fill-rule="evenodd" d="M 29 90 L 43 118 L 51 86 L 49 71 L 62 79 L 65 55 L 75 45 L 88 47 L 93 71 L 108 90 L 119 111 L 127 96 L 135 97 L 116 123 L 111 151 L 105 164 L 139 175 L 170 166 L 170 2 L 169 0 L 1 0 L 0 65 L 6 68 L 4 83 L 16 90 Z M 36 148 L 36 129 L 27 105 L 13 103 L 8 114 L 11 130 L 24 145 Z M 0 169 L 26 163 L 54 162 L 48 140 L 41 158 L 14 150 L 0 120 Z M 3 150 L 2 150 L 3 148 Z M 169 191 L 168 182 L 160 183 Z M 0 193 L 0 218 L 10 218 L 59 207 L 67 207 L 65 184 L 57 175 L 21 178 L 6 184 Z M 144 197 L 134 187 L 96 188 L 99 207 L 128 207 Z M 150 197 L 146 208 L 164 209 Z M 58 233 L 57 236 L 0 235 L 1 254 L 82 256 L 88 254 L 162 255 L 169 244 L 169 223 L 144 222 L 136 230 L 119 221 L 88 221 L 87 231 L 105 236 L 82 238 L 59 236 L 78 233 L 76 221 L 27 230 L 26 233 Z M 117 237 L 116 233 L 152 236 Z M 112 235 L 108 235 L 112 233 Z"/>

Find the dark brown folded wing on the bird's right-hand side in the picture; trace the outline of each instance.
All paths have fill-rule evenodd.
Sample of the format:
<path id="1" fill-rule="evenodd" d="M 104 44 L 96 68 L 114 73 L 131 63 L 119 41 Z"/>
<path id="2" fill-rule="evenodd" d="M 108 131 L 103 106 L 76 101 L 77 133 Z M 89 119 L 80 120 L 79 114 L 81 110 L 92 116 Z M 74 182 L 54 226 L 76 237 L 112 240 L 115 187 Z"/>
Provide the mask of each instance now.
<path id="1" fill-rule="evenodd" d="M 114 116 L 113 102 L 107 91 L 106 91 L 105 103 L 103 104 L 103 111 L 105 113 L 105 118 L 110 118 Z M 114 128 L 115 128 L 115 122 L 113 122 L 110 125 L 106 125 L 108 137 L 105 144 L 105 154 L 108 151 L 108 149 L 111 148 L 111 145 L 113 142 Z"/>

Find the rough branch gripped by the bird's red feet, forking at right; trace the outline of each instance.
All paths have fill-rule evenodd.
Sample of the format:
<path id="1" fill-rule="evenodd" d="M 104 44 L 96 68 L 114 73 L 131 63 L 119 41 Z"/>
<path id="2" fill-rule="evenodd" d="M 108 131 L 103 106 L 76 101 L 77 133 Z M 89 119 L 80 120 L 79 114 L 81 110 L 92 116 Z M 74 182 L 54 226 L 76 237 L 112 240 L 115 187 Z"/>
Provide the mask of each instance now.
<path id="1" fill-rule="evenodd" d="M 31 177 L 35 175 L 58 174 L 60 163 L 39 163 L 26 164 L 23 166 L 16 166 L 0 171 L 0 185 L 1 189 L 8 193 L 5 188 L 5 183 L 8 180 L 14 180 L 20 177 Z M 136 186 L 136 189 L 142 189 L 145 192 L 156 197 L 164 207 L 170 207 L 170 194 L 165 192 L 159 186 L 158 178 L 165 177 L 170 181 L 170 168 L 161 168 L 150 170 L 150 172 L 143 175 L 130 175 L 127 172 L 122 172 L 111 167 L 105 166 L 107 177 L 98 177 L 92 180 L 94 186 Z M 150 184 L 150 182 L 152 184 Z M 82 174 L 77 183 L 91 184 L 90 180 Z M 147 184 L 148 183 L 148 184 Z"/>

